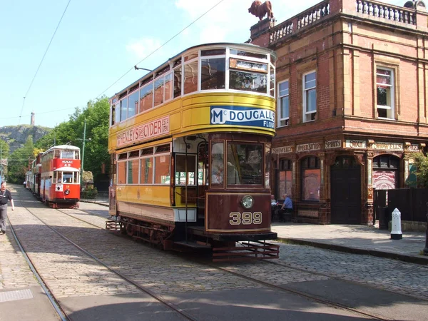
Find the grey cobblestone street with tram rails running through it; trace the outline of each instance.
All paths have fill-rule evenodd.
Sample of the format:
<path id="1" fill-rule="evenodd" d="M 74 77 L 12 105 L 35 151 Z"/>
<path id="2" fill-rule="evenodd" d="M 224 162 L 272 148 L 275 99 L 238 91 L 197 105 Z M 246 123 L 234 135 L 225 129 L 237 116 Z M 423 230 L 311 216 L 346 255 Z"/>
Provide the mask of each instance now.
<path id="1" fill-rule="evenodd" d="M 368 285 L 369 289 L 387 290 L 391 295 L 409 296 L 408 299 L 401 297 L 394 303 L 394 308 L 399 311 L 406 308 L 417 313 L 428 311 L 428 303 L 416 301 L 416 298 L 428 301 L 427 287 L 423 282 L 428 278 L 428 267 L 424 265 L 285 243 L 278 243 L 279 260 L 207 265 L 183 253 L 160 250 L 103 230 L 106 208 L 101 205 L 81 203 L 79 210 L 63 210 L 62 213 L 37 202 L 33 206 L 31 211 L 39 218 L 25 208 L 18 208 L 9 215 L 11 224 L 51 291 L 61 302 L 68 302 L 69 305 L 70 302 L 96 302 L 99 297 L 138 296 L 141 290 L 93 261 L 41 220 L 121 275 L 157 295 L 178 300 L 180 304 L 193 302 L 190 298 L 194 296 L 202 300 L 203 297 L 215 297 L 215 293 L 233 295 L 240 292 L 241 295 L 250 295 L 267 290 L 258 282 L 215 268 L 218 266 L 272 285 L 300 287 L 299 290 L 304 289 L 304 292 L 310 292 L 315 285 L 322 285 L 320 288 L 323 289 L 331 288 L 329 282 L 337 280 L 342 285 L 346 282 Z M 0 290 L 37 284 L 14 243 L 11 229 L 0 239 L 0 250 Z M 305 287 L 310 288 L 307 290 Z M 271 295 L 277 297 L 279 294 L 272 292 Z M 254 295 L 251 297 L 253 300 Z M 320 307 L 310 308 L 317 310 Z M 369 309 L 377 313 L 376 307 Z M 405 314 L 400 317 L 403 317 L 400 320 L 412 320 Z M 424 319 L 419 317 L 419 320 Z"/>

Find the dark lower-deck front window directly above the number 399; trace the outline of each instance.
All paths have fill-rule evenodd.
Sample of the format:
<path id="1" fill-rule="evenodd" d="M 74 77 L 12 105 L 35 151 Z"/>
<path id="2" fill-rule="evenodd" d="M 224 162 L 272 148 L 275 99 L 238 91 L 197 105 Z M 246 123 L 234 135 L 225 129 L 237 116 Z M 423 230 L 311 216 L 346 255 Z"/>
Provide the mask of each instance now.
<path id="1" fill-rule="evenodd" d="M 228 185 L 263 185 L 263 145 L 228 143 Z"/>

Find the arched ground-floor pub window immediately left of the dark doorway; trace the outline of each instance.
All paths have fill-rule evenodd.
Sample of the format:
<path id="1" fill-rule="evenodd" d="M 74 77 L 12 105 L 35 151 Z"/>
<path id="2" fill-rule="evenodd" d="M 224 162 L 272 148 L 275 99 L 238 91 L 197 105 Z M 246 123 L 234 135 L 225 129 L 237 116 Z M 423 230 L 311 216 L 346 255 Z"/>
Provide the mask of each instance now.
<path id="1" fill-rule="evenodd" d="M 302 200 L 320 200 L 320 158 L 309 156 L 302 159 Z"/>

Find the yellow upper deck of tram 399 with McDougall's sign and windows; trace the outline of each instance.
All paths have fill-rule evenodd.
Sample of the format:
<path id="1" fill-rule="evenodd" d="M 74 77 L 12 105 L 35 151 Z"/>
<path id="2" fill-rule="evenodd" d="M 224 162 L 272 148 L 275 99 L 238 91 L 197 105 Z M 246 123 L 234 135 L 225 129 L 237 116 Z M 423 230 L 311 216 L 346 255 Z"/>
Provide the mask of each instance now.
<path id="1" fill-rule="evenodd" d="M 111 97 L 109 152 L 193 133 L 274 136 L 275 60 L 250 44 L 186 49 Z"/>

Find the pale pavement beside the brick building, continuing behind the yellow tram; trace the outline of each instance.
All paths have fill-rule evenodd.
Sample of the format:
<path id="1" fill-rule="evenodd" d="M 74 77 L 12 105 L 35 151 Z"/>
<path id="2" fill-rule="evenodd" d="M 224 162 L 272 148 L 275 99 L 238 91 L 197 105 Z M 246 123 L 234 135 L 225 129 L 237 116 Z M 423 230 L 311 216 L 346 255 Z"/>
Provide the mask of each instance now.
<path id="1" fill-rule="evenodd" d="M 102 196 L 95 200 L 82 201 L 108 206 L 108 198 Z M 285 243 L 428 265 L 428 255 L 423 254 L 424 248 L 428 246 L 424 232 L 402 232 L 401 240 L 392 240 L 391 232 L 379 230 L 377 224 L 367 226 L 272 223 L 272 231 Z"/>

